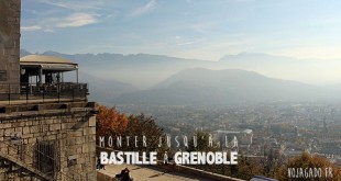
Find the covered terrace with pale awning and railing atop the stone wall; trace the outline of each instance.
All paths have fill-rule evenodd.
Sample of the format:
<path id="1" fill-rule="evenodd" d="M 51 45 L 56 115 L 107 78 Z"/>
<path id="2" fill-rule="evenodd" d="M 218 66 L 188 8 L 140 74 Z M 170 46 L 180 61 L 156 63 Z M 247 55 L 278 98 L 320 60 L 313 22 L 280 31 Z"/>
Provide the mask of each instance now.
<path id="1" fill-rule="evenodd" d="M 65 73 L 75 73 L 66 82 Z M 88 84 L 78 82 L 78 65 L 68 59 L 30 55 L 20 59 L 20 83 L 0 84 L 0 105 L 86 100 Z"/>

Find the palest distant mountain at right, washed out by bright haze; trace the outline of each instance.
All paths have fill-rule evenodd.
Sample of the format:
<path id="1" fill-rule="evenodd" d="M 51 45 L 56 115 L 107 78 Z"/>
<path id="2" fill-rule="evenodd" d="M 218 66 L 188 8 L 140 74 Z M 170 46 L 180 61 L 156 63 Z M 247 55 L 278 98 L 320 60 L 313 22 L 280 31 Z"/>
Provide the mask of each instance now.
<path id="1" fill-rule="evenodd" d="M 296 80 L 312 84 L 341 82 L 340 59 L 298 59 L 258 53 L 226 55 L 219 60 L 221 67 L 252 70 L 272 78 Z"/>

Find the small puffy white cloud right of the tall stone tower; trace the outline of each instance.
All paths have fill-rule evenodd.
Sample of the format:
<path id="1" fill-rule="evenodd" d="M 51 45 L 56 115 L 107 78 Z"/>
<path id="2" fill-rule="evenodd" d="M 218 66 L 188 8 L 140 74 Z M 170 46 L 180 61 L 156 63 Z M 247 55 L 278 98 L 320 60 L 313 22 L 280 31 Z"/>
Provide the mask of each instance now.
<path id="1" fill-rule="evenodd" d="M 87 14 L 87 13 L 73 13 L 66 19 L 57 22 L 57 27 L 79 27 L 88 24 L 97 23 L 96 14 Z"/>

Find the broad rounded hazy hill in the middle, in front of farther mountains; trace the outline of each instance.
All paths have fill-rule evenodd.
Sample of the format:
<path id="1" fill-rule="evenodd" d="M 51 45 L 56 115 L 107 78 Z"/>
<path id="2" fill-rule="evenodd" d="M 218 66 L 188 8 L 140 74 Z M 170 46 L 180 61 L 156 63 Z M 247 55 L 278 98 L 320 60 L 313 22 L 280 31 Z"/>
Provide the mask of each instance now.
<path id="1" fill-rule="evenodd" d="M 253 71 L 185 69 L 150 90 L 120 95 L 118 104 L 202 105 L 268 101 L 316 101 L 324 90 L 300 82 L 273 79 Z"/>

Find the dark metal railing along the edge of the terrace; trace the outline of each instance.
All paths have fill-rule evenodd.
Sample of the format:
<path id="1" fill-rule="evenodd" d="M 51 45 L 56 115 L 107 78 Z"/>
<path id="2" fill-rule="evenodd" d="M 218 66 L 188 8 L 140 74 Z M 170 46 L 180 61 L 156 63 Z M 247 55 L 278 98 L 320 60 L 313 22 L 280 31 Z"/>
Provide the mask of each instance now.
<path id="1" fill-rule="evenodd" d="M 34 102 L 63 99 L 85 100 L 88 95 L 87 83 L 20 83 L 0 84 L 0 104 L 12 104 L 14 101 Z"/>

